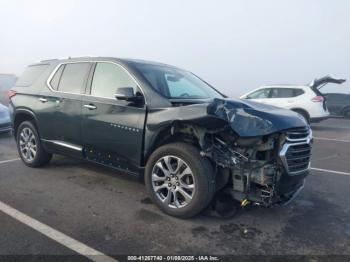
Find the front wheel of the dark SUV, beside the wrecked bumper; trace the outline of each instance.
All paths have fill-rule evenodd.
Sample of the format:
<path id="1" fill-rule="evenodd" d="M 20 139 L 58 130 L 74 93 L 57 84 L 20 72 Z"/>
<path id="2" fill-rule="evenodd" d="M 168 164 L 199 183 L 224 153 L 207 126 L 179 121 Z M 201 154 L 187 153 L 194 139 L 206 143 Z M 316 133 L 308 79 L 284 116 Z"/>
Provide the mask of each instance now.
<path id="1" fill-rule="evenodd" d="M 145 184 L 161 210 L 181 218 L 202 211 L 215 191 L 211 163 L 196 147 L 184 143 L 167 144 L 153 152 L 146 165 Z"/>

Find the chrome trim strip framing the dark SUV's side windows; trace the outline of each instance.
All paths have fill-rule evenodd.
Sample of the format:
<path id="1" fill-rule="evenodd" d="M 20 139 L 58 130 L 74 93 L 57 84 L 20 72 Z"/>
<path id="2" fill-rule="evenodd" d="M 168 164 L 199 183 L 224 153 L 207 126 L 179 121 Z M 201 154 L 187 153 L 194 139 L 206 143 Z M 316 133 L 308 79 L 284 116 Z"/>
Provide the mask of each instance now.
<path id="1" fill-rule="evenodd" d="M 103 98 L 103 99 L 109 99 L 109 100 L 113 100 L 113 101 L 118 101 L 115 98 L 110 98 L 110 97 L 102 97 L 102 96 L 93 96 L 90 94 L 81 94 L 81 93 L 70 93 L 70 92 L 62 92 L 59 90 L 55 90 L 52 88 L 50 82 L 52 80 L 52 78 L 54 77 L 54 75 L 56 74 L 56 72 L 58 71 L 58 69 L 62 66 L 62 65 L 67 65 L 67 64 L 78 64 L 78 63 L 109 63 L 109 64 L 114 64 L 116 66 L 121 67 L 130 77 L 131 79 L 135 82 L 135 84 L 140 88 L 143 98 L 145 99 L 145 104 L 147 105 L 147 98 L 145 96 L 145 92 L 143 91 L 140 83 L 137 81 L 137 79 L 120 63 L 117 62 L 113 62 L 113 61 L 107 61 L 107 60 L 89 60 L 89 61 L 72 61 L 72 62 L 62 62 L 59 63 L 54 70 L 52 71 L 52 73 L 49 75 L 48 79 L 46 80 L 46 85 L 47 87 L 50 89 L 50 91 L 55 92 L 55 93 L 62 93 L 62 94 L 71 94 L 71 95 L 81 95 L 81 96 L 88 96 L 88 97 L 96 97 L 96 98 Z"/>

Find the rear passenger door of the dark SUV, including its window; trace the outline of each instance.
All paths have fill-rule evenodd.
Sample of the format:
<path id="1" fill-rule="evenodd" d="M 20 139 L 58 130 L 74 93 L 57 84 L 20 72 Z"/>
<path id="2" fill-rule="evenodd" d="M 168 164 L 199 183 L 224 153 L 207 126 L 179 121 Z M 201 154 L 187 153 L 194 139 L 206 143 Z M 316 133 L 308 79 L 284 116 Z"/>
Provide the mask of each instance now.
<path id="1" fill-rule="evenodd" d="M 92 65 L 89 62 L 62 64 L 49 79 L 54 110 L 47 116 L 46 125 L 51 126 L 47 142 L 56 150 L 81 154 L 81 94 Z"/>

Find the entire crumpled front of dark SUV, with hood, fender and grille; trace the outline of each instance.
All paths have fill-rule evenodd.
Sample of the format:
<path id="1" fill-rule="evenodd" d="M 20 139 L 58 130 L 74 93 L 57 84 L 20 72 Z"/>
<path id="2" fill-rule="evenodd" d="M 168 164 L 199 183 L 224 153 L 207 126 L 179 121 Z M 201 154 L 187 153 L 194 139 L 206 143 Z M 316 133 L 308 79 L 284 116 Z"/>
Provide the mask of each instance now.
<path id="1" fill-rule="evenodd" d="M 216 168 L 216 191 L 229 191 L 243 205 L 271 206 L 288 203 L 302 189 L 312 134 L 305 120 L 290 110 L 214 99 L 150 112 L 146 141 L 146 153 L 153 141 L 199 147 Z"/>

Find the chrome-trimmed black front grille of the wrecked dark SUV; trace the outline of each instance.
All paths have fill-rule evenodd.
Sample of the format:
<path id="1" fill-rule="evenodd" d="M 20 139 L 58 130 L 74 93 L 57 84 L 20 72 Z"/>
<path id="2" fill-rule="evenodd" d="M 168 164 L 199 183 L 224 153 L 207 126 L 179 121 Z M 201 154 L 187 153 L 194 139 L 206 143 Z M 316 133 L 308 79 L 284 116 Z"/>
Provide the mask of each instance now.
<path id="1" fill-rule="evenodd" d="M 289 174 L 296 175 L 309 169 L 311 139 L 311 129 L 308 126 L 286 131 L 286 143 L 280 151 L 280 158 Z"/>

